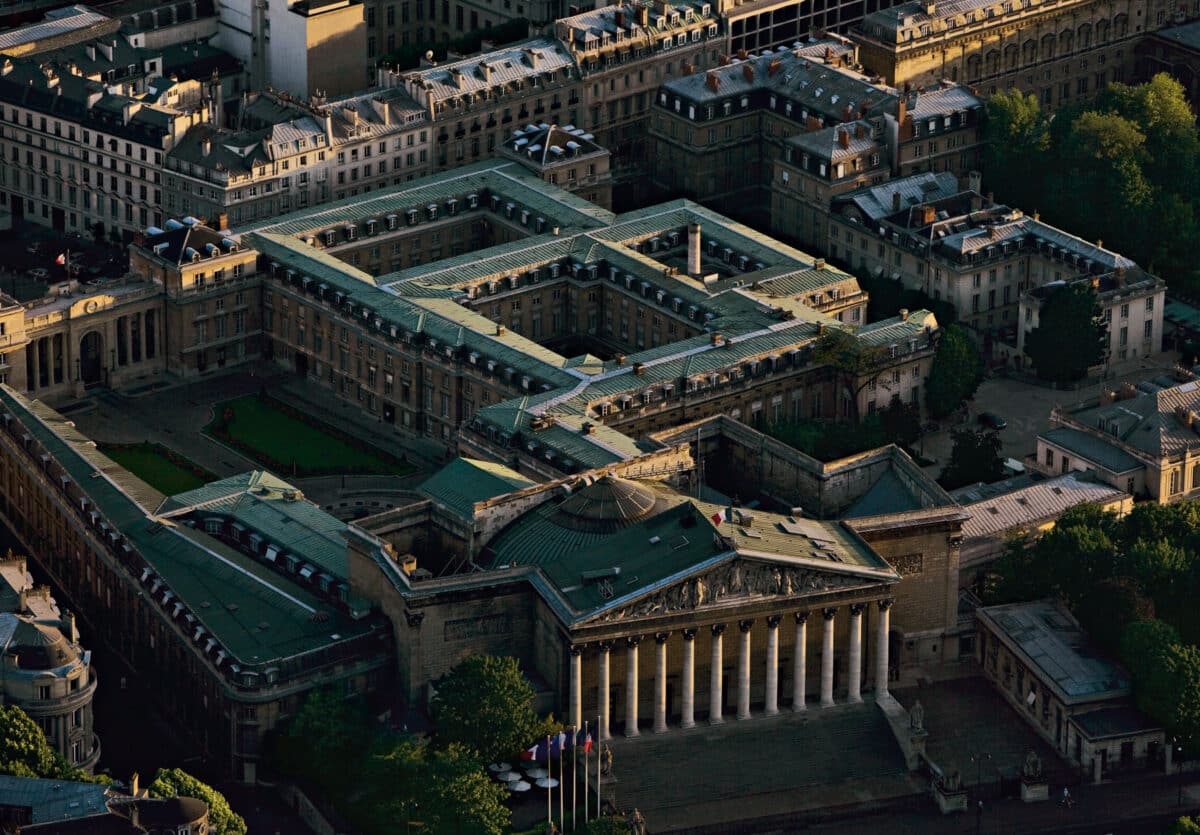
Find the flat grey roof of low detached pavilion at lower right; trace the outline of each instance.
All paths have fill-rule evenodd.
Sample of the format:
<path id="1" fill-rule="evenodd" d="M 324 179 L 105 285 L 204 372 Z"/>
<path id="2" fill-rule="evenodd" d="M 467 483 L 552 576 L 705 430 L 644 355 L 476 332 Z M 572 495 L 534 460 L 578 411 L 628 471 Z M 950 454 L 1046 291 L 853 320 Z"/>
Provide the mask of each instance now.
<path id="1" fill-rule="evenodd" d="M 1103 656 L 1079 621 L 1055 600 L 988 606 L 976 617 L 1052 687 L 1066 704 L 1128 697 L 1129 674 Z"/>

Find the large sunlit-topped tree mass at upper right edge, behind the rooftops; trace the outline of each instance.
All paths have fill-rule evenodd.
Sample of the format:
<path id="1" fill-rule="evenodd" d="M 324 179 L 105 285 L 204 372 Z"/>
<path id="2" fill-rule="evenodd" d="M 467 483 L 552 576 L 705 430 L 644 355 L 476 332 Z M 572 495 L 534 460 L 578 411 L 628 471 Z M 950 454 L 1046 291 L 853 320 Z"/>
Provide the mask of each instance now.
<path id="1" fill-rule="evenodd" d="M 1200 130 L 1169 74 L 1110 84 L 1052 120 L 1036 96 L 998 92 L 984 139 L 984 179 L 998 199 L 1103 240 L 1175 289 L 1200 289 L 1187 246 L 1200 232 Z"/>

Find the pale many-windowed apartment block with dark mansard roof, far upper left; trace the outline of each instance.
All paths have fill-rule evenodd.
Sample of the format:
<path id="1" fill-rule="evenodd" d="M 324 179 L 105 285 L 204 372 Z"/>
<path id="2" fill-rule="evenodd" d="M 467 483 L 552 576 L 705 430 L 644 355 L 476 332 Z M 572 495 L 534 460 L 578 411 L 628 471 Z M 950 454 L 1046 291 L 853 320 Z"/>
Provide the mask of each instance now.
<path id="1" fill-rule="evenodd" d="M 161 223 L 163 157 L 210 118 L 205 85 L 161 60 L 121 40 L 0 58 L 0 208 L 113 240 Z"/>

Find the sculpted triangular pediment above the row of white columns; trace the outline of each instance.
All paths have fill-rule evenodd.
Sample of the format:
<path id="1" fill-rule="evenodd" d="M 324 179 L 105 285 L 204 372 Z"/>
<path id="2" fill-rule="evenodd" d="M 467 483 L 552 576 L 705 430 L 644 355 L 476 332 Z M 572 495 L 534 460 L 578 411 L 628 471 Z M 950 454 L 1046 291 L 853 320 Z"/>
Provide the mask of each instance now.
<path id="1" fill-rule="evenodd" d="M 604 624 L 688 612 L 702 614 L 706 611 L 724 611 L 761 600 L 794 600 L 803 605 L 806 597 L 888 579 L 892 577 L 733 558 L 636 599 L 601 607 L 594 614 L 584 617 L 582 623 Z"/>

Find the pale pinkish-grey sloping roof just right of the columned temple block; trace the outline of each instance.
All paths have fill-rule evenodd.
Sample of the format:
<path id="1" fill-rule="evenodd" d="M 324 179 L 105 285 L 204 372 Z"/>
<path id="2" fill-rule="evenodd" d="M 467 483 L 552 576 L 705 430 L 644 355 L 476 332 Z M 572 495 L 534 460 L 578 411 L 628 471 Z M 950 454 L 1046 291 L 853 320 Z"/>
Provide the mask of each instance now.
<path id="1" fill-rule="evenodd" d="M 962 498 L 970 497 L 970 489 L 962 494 Z M 962 536 L 966 540 L 994 536 L 1057 518 L 1068 507 L 1085 501 L 1106 504 L 1122 498 L 1127 498 L 1127 493 L 1076 474 L 1046 479 L 964 505 L 962 510 L 971 518 L 962 524 Z"/>

